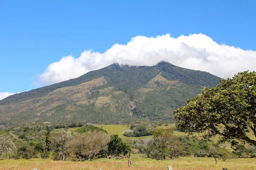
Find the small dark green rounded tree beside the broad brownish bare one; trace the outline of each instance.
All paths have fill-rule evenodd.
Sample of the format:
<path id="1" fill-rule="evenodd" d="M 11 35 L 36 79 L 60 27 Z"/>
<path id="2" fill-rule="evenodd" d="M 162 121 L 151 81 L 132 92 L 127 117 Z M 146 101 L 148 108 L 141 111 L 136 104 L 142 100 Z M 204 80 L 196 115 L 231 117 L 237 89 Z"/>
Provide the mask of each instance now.
<path id="1" fill-rule="evenodd" d="M 118 135 L 114 134 L 111 136 L 110 141 L 108 142 L 108 155 L 119 156 L 121 154 L 126 155 L 131 151 L 131 147 Z"/>

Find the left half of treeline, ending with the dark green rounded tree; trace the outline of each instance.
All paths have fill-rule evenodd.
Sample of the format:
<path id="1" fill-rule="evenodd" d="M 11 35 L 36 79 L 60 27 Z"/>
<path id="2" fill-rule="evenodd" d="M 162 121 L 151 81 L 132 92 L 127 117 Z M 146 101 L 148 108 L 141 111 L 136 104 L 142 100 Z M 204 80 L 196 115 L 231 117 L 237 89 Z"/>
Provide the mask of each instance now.
<path id="1" fill-rule="evenodd" d="M 131 152 L 131 147 L 118 135 L 110 136 L 105 130 L 94 125 L 86 124 L 76 130 L 54 127 L 45 127 L 41 140 L 21 139 L 13 135 L 13 131 L 0 131 L 0 157 L 84 161 L 125 156 Z M 29 131 L 28 128 L 23 130 Z M 30 130 L 35 130 L 35 127 Z"/>

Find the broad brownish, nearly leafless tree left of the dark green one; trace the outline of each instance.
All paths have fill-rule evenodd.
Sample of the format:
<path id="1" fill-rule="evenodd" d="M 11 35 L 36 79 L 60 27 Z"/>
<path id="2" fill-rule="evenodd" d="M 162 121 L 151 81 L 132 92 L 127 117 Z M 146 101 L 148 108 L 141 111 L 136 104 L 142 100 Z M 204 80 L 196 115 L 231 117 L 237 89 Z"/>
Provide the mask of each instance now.
<path id="1" fill-rule="evenodd" d="M 67 153 L 73 153 L 81 159 L 89 160 L 102 150 L 107 149 L 109 136 L 102 131 L 89 131 L 74 136 L 67 141 Z"/>

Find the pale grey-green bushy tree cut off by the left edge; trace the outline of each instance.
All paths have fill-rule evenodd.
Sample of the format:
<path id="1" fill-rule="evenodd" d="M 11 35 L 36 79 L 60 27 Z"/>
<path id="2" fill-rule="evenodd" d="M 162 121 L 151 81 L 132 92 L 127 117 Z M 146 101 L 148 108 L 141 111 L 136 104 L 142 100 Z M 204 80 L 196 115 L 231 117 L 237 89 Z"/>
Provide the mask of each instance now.
<path id="1" fill-rule="evenodd" d="M 0 157 L 12 156 L 16 152 L 15 142 L 12 141 L 9 132 L 0 132 Z"/>

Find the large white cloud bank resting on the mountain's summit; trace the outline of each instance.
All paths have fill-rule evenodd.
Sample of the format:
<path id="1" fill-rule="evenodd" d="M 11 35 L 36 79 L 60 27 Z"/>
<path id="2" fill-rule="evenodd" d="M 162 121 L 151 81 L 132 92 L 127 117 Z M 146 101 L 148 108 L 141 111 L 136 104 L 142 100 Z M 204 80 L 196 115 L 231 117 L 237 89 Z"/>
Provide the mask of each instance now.
<path id="1" fill-rule="evenodd" d="M 113 45 L 104 53 L 87 50 L 78 58 L 72 55 L 63 57 L 47 67 L 39 76 L 39 84 L 49 85 L 76 78 L 114 62 L 151 66 L 162 60 L 227 78 L 237 72 L 253 71 L 256 51 L 220 45 L 204 34 L 181 35 L 177 38 L 170 34 L 157 37 L 137 36 L 125 45 Z"/>

